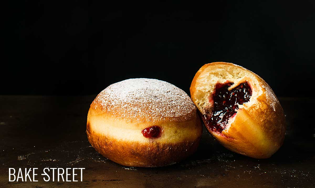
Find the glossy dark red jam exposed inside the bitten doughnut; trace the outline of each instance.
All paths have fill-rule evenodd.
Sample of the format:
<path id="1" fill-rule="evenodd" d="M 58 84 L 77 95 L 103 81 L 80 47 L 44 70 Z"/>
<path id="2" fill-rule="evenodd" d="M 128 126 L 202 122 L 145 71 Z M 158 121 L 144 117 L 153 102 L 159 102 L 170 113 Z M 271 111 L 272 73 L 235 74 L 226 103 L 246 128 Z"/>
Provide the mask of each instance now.
<path id="1" fill-rule="evenodd" d="M 211 115 L 203 116 L 206 126 L 211 131 L 222 132 L 230 117 L 236 114 L 238 104 L 243 104 L 249 101 L 252 96 L 252 89 L 250 85 L 245 82 L 231 91 L 228 88 L 233 85 L 232 82 L 217 84 L 215 86 L 215 93 L 212 96 L 214 108 Z"/>

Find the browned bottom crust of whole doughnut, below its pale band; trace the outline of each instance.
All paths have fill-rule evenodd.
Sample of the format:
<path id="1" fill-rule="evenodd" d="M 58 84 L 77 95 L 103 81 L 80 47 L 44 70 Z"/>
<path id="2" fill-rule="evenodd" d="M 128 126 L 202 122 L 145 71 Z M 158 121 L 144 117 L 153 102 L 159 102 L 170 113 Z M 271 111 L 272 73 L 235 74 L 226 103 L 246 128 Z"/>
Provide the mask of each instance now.
<path id="1" fill-rule="evenodd" d="M 87 125 L 89 127 L 89 124 Z M 192 141 L 176 143 L 117 140 L 101 134 L 91 134 L 89 142 L 97 152 L 118 164 L 130 167 L 161 167 L 179 162 L 192 155 L 199 145 L 200 137 Z"/>

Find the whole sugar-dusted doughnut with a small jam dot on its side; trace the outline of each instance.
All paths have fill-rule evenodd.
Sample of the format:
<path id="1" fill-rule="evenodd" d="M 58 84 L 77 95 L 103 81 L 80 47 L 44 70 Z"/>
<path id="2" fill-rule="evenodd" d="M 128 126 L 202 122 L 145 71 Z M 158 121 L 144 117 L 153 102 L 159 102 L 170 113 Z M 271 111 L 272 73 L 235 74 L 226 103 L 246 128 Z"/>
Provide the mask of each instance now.
<path id="1" fill-rule="evenodd" d="M 202 122 L 190 97 L 157 79 L 127 79 L 108 86 L 92 102 L 89 142 L 125 166 L 158 167 L 192 155 Z"/>

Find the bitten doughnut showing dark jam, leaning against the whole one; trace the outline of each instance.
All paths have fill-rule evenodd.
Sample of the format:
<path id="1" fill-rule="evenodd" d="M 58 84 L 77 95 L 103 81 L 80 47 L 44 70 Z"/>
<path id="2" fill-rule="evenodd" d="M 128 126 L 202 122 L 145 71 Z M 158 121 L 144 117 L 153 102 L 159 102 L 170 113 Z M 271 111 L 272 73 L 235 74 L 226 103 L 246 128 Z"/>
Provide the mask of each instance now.
<path id="1" fill-rule="evenodd" d="M 226 62 L 205 64 L 190 87 L 208 131 L 227 149 L 268 158 L 283 144 L 283 109 L 257 74 Z"/>

